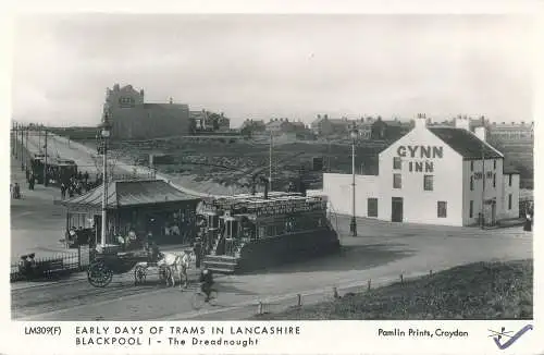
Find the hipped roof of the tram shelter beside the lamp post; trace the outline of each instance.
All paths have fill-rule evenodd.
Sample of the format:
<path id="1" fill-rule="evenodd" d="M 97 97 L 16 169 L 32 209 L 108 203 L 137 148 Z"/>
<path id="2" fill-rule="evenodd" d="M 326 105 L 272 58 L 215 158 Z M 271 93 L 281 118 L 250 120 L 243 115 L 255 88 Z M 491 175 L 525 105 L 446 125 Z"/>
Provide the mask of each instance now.
<path id="1" fill-rule="evenodd" d="M 102 206 L 103 185 L 63 201 L 65 206 Z M 108 208 L 198 200 L 161 180 L 113 181 L 108 184 Z"/>

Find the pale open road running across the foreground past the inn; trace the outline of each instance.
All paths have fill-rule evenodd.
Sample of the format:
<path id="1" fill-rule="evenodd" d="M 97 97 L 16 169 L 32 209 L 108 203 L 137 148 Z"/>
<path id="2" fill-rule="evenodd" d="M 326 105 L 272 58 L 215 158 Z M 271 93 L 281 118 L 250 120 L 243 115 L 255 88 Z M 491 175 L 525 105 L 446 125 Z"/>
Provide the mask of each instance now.
<path id="1" fill-rule="evenodd" d="M 348 218 L 339 224 L 347 227 Z M 12 311 L 28 320 L 177 320 L 237 319 L 249 317 L 261 301 L 281 309 L 332 297 L 332 287 L 363 287 L 426 274 L 457 265 L 483 260 L 532 258 L 532 234 L 520 228 L 481 231 L 360 220 L 359 237 L 342 237 L 338 255 L 285 265 L 243 276 L 218 276 L 217 306 L 191 308 L 188 291 L 164 287 L 151 274 L 147 284 L 134 286 L 132 273 L 114 276 L 112 284 L 95 289 L 84 276 L 57 283 L 13 284 Z M 191 270 L 191 279 L 196 278 Z"/>

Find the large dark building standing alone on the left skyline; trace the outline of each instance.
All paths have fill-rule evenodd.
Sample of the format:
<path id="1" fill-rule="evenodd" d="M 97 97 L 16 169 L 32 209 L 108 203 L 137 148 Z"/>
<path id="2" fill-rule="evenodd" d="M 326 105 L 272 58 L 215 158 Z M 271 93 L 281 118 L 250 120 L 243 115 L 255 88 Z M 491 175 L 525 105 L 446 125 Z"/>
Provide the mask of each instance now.
<path id="1" fill-rule="evenodd" d="M 146 103 L 144 90 L 132 85 L 107 88 L 104 113 L 109 112 L 112 138 L 146 139 L 173 135 L 185 135 L 191 131 L 187 105 Z"/>

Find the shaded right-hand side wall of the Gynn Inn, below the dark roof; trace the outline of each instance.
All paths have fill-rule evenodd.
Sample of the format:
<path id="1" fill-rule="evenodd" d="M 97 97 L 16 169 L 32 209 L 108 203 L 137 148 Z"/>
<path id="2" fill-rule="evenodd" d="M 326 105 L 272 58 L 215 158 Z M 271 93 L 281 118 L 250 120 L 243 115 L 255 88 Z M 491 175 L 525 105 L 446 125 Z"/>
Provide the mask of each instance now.
<path id="1" fill-rule="evenodd" d="M 473 170 L 471 171 L 471 161 Z M 496 161 L 496 168 L 494 166 Z M 494 199 L 496 201 L 496 219 L 500 219 L 504 213 L 504 198 L 503 198 L 503 159 L 486 159 L 483 166 L 485 172 L 485 194 L 484 199 Z M 462 184 L 463 184 L 463 223 L 465 225 L 475 225 L 479 223 L 479 213 L 482 212 L 482 188 L 483 179 L 482 174 L 482 160 L 466 160 L 462 166 Z M 495 175 L 495 187 L 493 186 L 493 175 Z M 470 178 L 473 178 L 474 189 L 470 189 Z M 473 201 L 473 213 L 470 218 L 470 201 Z M 483 213 L 485 221 L 492 220 L 492 206 L 484 205 Z"/>

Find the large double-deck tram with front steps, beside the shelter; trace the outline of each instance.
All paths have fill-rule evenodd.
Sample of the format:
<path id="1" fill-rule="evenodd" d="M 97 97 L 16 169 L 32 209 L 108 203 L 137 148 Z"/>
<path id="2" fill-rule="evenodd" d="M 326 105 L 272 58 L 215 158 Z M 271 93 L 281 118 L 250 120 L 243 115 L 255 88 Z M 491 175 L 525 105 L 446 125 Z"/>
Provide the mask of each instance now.
<path id="1" fill-rule="evenodd" d="M 267 191 L 203 201 L 203 265 L 240 273 L 339 249 L 326 196 Z"/>

